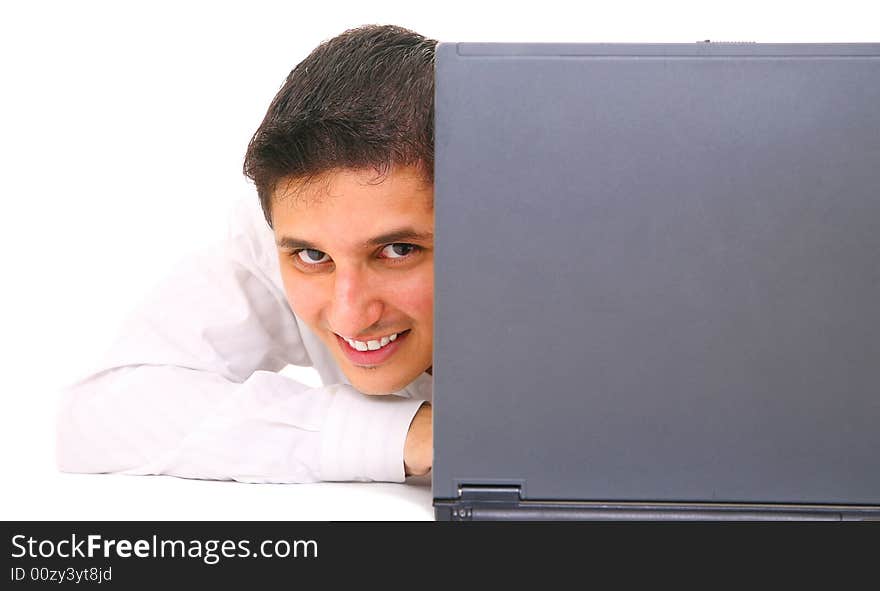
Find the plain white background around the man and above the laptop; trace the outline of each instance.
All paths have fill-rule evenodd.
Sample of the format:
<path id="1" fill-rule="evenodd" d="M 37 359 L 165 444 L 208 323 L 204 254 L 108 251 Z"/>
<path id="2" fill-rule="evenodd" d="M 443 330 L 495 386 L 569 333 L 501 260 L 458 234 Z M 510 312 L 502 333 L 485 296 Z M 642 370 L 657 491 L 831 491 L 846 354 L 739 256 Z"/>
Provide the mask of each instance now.
<path id="1" fill-rule="evenodd" d="M 58 388 L 256 199 L 245 147 L 287 73 L 362 24 L 442 41 L 878 42 L 876 2 L 3 2 L 0 519 L 431 519 L 424 485 L 60 474 Z M 314 379 L 301 374 L 302 379 Z"/>

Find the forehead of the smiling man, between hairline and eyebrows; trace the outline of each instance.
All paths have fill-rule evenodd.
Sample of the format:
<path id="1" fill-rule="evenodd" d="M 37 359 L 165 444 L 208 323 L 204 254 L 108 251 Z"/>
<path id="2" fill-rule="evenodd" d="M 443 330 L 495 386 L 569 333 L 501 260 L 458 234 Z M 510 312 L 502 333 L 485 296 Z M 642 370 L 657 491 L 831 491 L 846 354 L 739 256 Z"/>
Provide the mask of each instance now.
<path id="1" fill-rule="evenodd" d="M 433 229 L 434 189 L 420 170 L 336 169 L 310 181 L 282 181 L 273 195 L 276 238 L 341 245 L 401 227 Z"/>

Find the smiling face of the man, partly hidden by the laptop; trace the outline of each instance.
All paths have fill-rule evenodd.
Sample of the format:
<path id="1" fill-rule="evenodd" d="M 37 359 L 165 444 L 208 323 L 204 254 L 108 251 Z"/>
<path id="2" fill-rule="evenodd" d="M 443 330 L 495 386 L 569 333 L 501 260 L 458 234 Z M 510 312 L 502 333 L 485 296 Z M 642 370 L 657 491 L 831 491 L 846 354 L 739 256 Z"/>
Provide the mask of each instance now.
<path id="1" fill-rule="evenodd" d="M 273 196 L 290 306 L 366 394 L 401 390 L 431 367 L 433 197 L 411 167 L 378 183 L 372 170 L 337 169 Z"/>

